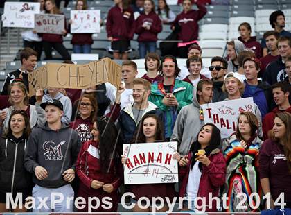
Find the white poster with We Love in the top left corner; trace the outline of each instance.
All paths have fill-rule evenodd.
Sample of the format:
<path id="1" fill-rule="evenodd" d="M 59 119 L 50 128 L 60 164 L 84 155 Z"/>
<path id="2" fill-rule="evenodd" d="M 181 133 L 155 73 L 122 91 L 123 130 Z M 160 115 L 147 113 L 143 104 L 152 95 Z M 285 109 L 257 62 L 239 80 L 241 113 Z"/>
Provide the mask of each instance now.
<path id="1" fill-rule="evenodd" d="M 35 14 L 40 12 L 40 3 L 6 1 L 2 15 L 3 27 L 34 28 Z"/>

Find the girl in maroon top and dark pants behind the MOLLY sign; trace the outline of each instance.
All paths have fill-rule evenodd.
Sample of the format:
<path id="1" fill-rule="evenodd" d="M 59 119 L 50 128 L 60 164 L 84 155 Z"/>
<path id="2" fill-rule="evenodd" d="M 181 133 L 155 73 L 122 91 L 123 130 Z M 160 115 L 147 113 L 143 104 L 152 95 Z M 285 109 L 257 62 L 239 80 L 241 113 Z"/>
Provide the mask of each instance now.
<path id="1" fill-rule="evenodd" d="M 45 2 L 45 10 L 46 13 L 49 13 L 51 15 L 58 14 L 60 15 L 60 11 L 58 10 L 57 6 L 55 6 L 54 0 L 46 0 Z M 66 19 L 64 19 L 64 30 L 62 31 L 63 35 L 67 34 L 66 30 Z M 62 44 L 62 35 L 57 35 L 53 33 L 43 33 L 42 34 L 42 41 L 44 46 L 44 53 L 46 54 L 46 60 L 50 60 L 52 57 L 51 55 L 51 49 L 55 49 L 55 51 L 58 51 L 60 55 L 62 55 L 63 60 L 70 60 L 71 56 L 69 55 L 69 52 L 67 51 L 66 47 L 64 47 L 64 44 Z"/>

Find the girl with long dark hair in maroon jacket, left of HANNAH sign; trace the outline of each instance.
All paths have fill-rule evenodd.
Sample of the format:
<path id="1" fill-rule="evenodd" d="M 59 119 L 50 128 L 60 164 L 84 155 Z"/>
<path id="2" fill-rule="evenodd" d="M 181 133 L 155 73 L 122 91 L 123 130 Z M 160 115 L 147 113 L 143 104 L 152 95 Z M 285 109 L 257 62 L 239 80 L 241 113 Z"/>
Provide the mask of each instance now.
<path id="1" fill-rule="evenodd" d="M 94 212 L 116 212 L 118 207 L 118 187 L 121 185 L 121 164 L 116 159 L 115 150 L 117 130 L 112 121 L 106 117 L 96 119 L 91 131 L 93 140 L 86 141 L 76 162 L 76 173 L 80 178 L 78 197 L 85 198 L 85 208 L 79 212 L 91 212 L 89 198 L 97 197 L 100 206 Z M 103 198 L 112 200 L 111 208 L 103 208 Z M 108 202 L 108 200 L 107 200 Z M 104 205 L 105 206 L 105 205 Z M 108 207 L 108 205 L 106 205 Z"/>

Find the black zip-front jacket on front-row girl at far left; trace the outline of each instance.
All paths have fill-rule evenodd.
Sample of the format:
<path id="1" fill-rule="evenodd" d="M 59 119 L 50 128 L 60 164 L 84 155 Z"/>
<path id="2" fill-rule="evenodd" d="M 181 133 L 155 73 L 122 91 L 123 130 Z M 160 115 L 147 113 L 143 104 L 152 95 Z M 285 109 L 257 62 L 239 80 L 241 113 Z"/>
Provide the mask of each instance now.
<path id="1" fill-rule="evenodd" d="M 30 173 L 24 168 L 27 139 L 0 138 L 0 190 L 30 193 L 33 188 Z"/>

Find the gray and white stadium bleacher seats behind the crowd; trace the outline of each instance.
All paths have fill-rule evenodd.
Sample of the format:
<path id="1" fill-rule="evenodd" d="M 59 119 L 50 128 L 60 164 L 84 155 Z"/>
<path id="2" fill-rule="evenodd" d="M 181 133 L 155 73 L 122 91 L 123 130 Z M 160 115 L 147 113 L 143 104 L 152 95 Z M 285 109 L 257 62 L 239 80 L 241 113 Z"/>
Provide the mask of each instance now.
<path id="1" fill-rule="evenodd" d="M 157 1 L 155 1 L 157 6 Z M 62 12 L 67 20 L 70 18 L 71 10 L 74 10 L 76 1 L 69 1 L 67 8 Z M 113 5 L 112 0 L 88 1 L 89 9 L 101 10 L 101 16 L 106 22 L 107 12 Z M 196 6 L 193 6 L 196 7 Z M 182 11 L 182 6 L 170 5 L 170 9 L 177 15 Z M 209 66 L 209 58 L 213 55 L 222 55 L 225 51 L 225 44 L 228 40 L 238 38 L 238 26 L 242 22 L 248 22 L 252 26 L 252 36 L 257 36 L 257 40 L 263 37 L 265 31 L 272 30 L 269 23 L 269 15 L 274 10 L 283 10 L 285 13 L 287 31 L 291 30 L 291 1 L 289 0 L 212 0 L 207 6 L 206 16 L 200 20 L 199 40 L 202 46 L 204 65 Z M 1 11 L 0 11 L 1 12 Z M 157 42 L 157 52 L 159 43 L 170 34 L 170 25 L 164 25 L 163 31 L 159 33 Z M 132 53 L 130 58 L 139 58 L 138 42 L 136 35 L 131 42 Z M 112 57 L 109 52 L 110 44 L 107 40 L 105 26 L 101 27 L 101 32 L 93 35 L 94 44 L 91 46 L 91 53 L 97 53 L 99 58 L 105 56 Z M 64 37 L 64 46 L 72 53 L 71 34 Z M 43 55 L 44 56 L 44 55 Z M 53 53 L 53 58 L 58 59 L 60 55 Z M 46 61 L 44 61 L 46 62 Z M 144 67 L 143 64 L 141 64 Z M 0 84 L 8 71 L 19 68 L 19 61 L 6 62 L 5 71 L 0 71 Z M 139 68 L 144 69 L 144 68 Z"/>

